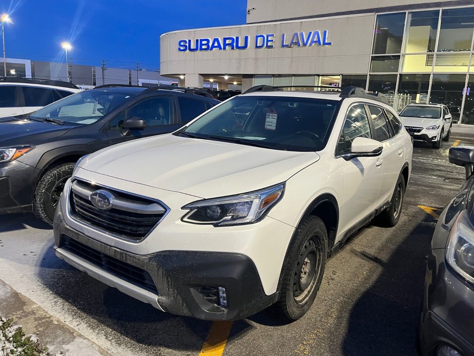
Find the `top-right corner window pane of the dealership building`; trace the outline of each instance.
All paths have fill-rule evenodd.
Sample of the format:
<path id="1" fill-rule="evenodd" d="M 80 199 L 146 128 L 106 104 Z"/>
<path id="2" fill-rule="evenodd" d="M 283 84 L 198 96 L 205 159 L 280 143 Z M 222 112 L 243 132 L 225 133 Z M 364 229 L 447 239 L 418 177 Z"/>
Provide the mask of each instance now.
<path id="1" fill-rule="evenodd" d="M 474 29 L 474 8 L 447 9 L 441 12 L 438 52 L 469 51 Z"/>

